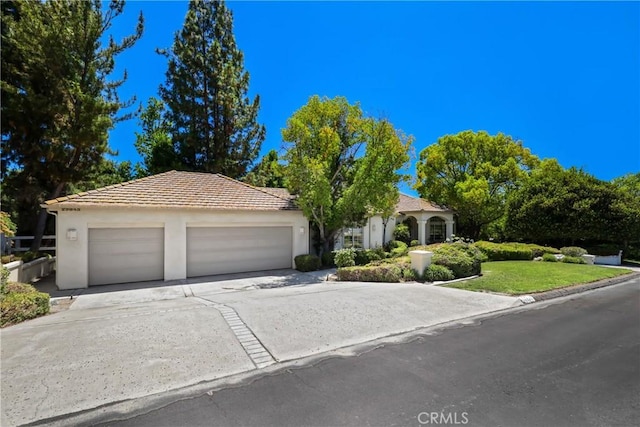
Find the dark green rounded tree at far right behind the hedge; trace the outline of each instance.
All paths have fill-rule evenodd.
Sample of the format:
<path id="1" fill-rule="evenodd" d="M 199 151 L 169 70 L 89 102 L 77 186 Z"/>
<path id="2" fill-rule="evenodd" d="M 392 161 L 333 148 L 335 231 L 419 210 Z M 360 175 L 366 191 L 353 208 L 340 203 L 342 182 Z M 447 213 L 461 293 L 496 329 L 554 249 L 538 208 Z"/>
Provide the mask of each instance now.
<path id="1" fill-rule="evenodd" d="M 625 242 L 640 234 L 640 210 L 632 211 L 630 199 L 613 184 L 547 159 L 511 194 L 506 231 L 536 241 Z"/>

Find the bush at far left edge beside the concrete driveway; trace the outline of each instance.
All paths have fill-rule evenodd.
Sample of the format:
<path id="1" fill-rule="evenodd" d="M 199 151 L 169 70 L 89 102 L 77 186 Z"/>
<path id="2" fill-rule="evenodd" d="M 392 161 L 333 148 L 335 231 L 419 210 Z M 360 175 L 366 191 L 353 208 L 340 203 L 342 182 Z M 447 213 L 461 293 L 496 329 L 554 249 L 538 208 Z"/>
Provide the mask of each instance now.
<path id="1" fill-rule="evenodd" d="M 14 286 L 18 285 L 18 286 Z M 0 301 L 0 326 L 9 326 L 49 312 L 49 295 L 31 285 L 7 285 L 9 291 Z"/>

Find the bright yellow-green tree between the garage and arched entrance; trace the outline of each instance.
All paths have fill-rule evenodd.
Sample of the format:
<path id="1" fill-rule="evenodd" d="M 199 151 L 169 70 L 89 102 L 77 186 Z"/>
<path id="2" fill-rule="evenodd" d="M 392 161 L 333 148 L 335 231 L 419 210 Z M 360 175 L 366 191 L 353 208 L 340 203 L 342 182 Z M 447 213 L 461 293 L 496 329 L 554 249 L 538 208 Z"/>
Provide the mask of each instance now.
<path id="1" fill-rule="evenodd" d="M 324 251 L 341 228 L 397 201 L 397 184 L 406 178 L 398 170 L 409 161 L 412 138 L 387 120 L 363 117 L 359 105 L 342 97 L 313 96 L 289 118 L 282 137 L 289 190 L 317 227 Z"/>

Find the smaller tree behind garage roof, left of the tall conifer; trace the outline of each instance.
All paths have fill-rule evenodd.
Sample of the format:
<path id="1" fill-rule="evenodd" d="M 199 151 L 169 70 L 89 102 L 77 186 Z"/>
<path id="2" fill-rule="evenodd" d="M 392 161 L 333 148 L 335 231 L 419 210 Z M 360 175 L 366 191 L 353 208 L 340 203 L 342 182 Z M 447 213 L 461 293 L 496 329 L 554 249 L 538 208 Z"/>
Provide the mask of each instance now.
<path id="1" fill-rule="evenodd" d="M 171 139 L 171 123 L 167 121 L 166 107 L 162 101 L 151 97 L 140 113 L 142 132 L 136 132 L 134 145 L 142 157 L 136 165 L 136 176 L 144 177 L 180 169 Z"/>

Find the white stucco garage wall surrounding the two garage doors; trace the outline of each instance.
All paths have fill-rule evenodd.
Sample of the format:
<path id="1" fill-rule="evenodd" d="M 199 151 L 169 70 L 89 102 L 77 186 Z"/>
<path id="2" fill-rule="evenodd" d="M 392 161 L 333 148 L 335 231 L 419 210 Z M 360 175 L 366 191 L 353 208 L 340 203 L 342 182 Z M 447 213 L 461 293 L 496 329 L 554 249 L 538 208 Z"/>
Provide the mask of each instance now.
<path id="1" fill-rule="evenodd" d="M 187 277 L 187 227 L 293 227 L 293 258 L 309 253 L 309 223 L 300 211 L 204 211 L 86 208 L 59 211 L 56 219 L 56 284 L 60 289 L 88 286 L 90 228 L 164 228 L 164 279 Z M 77 240 L 67 239 L 74 229 Z M 304 229 L 304 233 L 300 230 Z"/>

